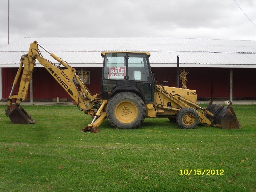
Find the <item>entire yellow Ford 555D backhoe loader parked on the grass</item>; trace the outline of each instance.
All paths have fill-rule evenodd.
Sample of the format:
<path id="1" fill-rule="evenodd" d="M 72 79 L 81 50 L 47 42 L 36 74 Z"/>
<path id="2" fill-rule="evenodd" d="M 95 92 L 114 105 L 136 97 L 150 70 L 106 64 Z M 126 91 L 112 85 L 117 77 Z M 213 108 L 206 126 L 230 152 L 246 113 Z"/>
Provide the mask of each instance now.
<path id="1" fill-rule="evenodd" d="M 38 47 L 48 52 L 59 64 L 55 65 L 45 59 Z M 241 128 L 230 107 L 232 103 L 226 107 L 212 104 L 211 101 L 206 108 L 202 108 L 196 103 L 195 90 L 158 84 L 151 72 L 148 52 L 102 52 L 101 56 L 104 58 L 102 92 L 92 95 L 74 68 L 34 41 L 30 44 L 28 54 L 22 55 L 20 59 L 20 67 L 7 101 L 6 116 L 14 124 L 36 122 L 20 103 L 26 100 L 29 80 L 35 70 L 35 60 L 38 60 L 76 101 L 78 108 L 93 117 L 92 123 L 83 128 L 82 132 L 98 132 L 98 126 L 106 118 L 117 129 L 136 129 L 145 117 L 168 117 L 183 129 L 193 129 L 198 122 L 223 129 Z M 19 92 L 12 95 L 21 71 Z M 16 99 L 16 103 L 12 104 L 12 99 Z"/>

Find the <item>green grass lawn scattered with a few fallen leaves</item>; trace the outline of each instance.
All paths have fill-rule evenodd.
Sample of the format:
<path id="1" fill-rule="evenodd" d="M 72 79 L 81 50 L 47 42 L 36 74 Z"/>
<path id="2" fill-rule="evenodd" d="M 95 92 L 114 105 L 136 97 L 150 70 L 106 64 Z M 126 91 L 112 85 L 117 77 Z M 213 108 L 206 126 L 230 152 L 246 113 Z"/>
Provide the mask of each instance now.
<path id="1" fill-rule="evenodd" d="M 92 118 L 76 106 L 25 106 L 37 120 L 25 125 L 11 124 L 4 108 L 0 191 L 256 190 L 256 105 L 233 106 L 239 130 L 182 130 L 167 118 L 146 118 L 136 130 L 116 130 L 105 120 L 98 133 L 80 132 Z"/>

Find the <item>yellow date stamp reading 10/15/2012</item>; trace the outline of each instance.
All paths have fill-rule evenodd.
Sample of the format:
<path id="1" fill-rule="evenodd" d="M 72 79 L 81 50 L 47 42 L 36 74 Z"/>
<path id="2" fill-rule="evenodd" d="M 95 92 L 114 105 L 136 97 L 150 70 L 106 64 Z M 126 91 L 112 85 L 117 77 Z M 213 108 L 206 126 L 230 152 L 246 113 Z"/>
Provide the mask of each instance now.
<path id="1" fill-rule="evenodd" d="M 224 175 L 223 169 L 180 169 L 180 175 Z"/>

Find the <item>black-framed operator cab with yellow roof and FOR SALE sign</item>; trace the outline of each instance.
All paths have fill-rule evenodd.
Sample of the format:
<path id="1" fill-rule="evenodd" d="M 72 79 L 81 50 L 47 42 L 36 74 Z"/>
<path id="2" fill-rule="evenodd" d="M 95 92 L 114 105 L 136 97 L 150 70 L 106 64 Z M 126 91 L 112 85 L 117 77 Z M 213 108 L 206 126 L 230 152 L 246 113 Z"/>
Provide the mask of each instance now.
<path id="1" fill-rule="evenodd" d="M 145 103 L 154 101 L 154 80 L 148 52 L 102 52 L 102 99 L 117 92 L 138 94 Z"/>

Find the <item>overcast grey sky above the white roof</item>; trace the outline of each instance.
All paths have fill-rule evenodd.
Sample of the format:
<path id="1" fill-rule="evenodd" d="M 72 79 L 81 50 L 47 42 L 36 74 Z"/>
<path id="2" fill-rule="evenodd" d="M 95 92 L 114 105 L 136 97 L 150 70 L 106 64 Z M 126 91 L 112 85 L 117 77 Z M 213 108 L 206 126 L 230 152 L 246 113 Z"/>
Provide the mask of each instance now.
<path id="1" fill-rule="evenodd" d="M 256 0 L 236 0 L 256 24 Z M 184 37 L 256 40 L 234 0 L 10 0 L 10 44 L 22 37 Z M 8 0 L 0 1 L 0 48 Z"/>

